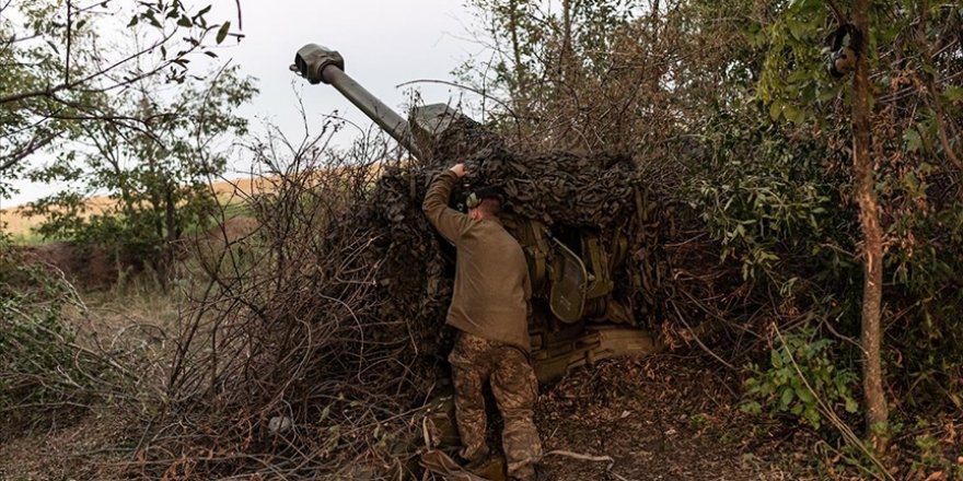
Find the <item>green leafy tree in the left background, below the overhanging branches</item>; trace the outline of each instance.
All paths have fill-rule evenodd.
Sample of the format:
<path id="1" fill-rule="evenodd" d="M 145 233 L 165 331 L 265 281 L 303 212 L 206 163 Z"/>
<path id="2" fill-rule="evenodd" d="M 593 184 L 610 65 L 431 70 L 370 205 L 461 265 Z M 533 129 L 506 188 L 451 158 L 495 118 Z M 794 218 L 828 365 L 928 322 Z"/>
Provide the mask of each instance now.
<path id="1" fill-rule="evenodd" d="M 35 181 L 72 186 L 30 204 L 30 214 L 46 219 L 38 233 L 146 259 L 165 281 L 172 242 L 202 226 L 216 206 L 208 181 L 224 169 L 224 137 L 246 133 L 234 109 L 256 92 L 236 67 L 211 79 L 183 83 L 170 103 L 152 96 L 152 86 L 117 95 L 116 114 L 141 118 L 147 129 L 88 126 L 74 139 L 92 151 L 67 150 L 31 173 Z M 88 197 L 104 191 L 111 202 L 89 212 Z"/>

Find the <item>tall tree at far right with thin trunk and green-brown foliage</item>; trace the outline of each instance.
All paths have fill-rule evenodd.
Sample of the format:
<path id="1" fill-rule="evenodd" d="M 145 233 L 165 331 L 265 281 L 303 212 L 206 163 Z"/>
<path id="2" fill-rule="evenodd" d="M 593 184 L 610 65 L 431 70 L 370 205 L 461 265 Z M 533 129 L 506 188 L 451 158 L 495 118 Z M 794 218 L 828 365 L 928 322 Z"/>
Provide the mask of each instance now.
<path id="1" fill-rule="evenodd" d="M 908 384 L 929 385 L 932 376 L 923 372 L 959 366 L 951 352 L 919 351 L 961 336 L 959 324 L 949 320 L 958 316 L 950 313 L 959 290 L 947 289 L 955 283 L 948 272 L 963 260 L 960 224 L 953 220 L 963 196 L 960 126 L 959 115 L 949 114 L 959 114 L 963 93 L 963 46 L 955 35 L 961 13 L 949 3 L 909 0 L 856 0 L 840 7 L 803 0 L 762 21 L 769 52 L 758 93 L 774 119 L 815 132 L 840 157 L 851 159 L 851 188 L 844 193 L 856 204 L 861 232 L 858 320 L 867 435 L 882 451 L 889 421 L 883 364 L 887 303 L 919 300 L 893 316 L 904 319 L 906 329 L 889 337 L 902 344 L 901 362 L 920 369 Z M 824 50 L 825 38 L 848 27 L 858 34 L 850 37 L 856 50 L 851 82 L 831 78 Z M 937 254 L 941 247 L 936 246 L 943 251 Z M 887 297 L 884 282 L 892 289 Z M 960 406 L 956 395 L 948 397 Z"/>

